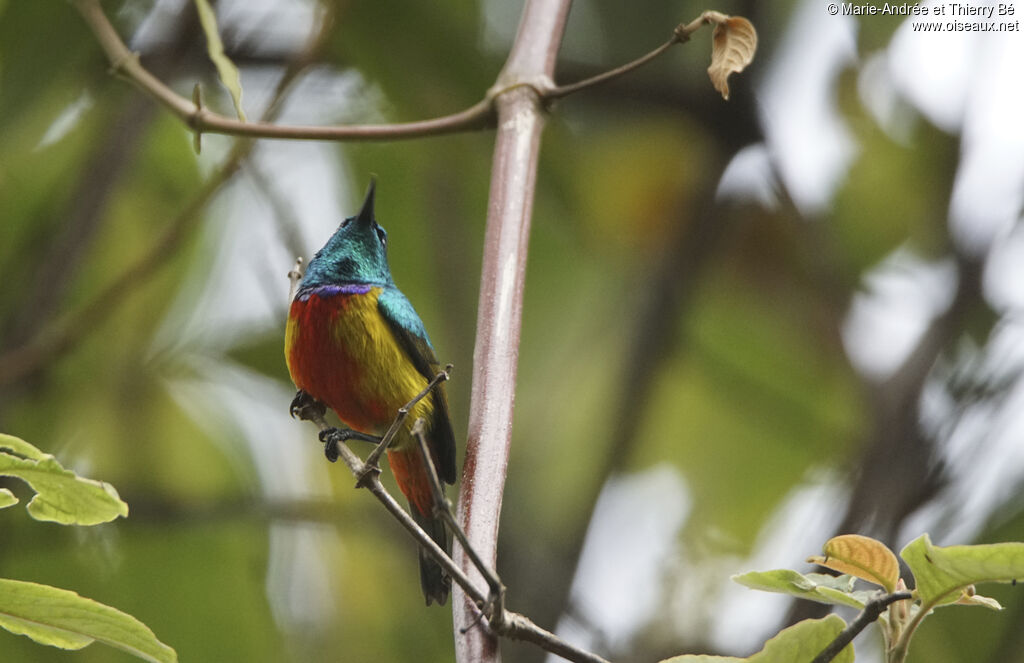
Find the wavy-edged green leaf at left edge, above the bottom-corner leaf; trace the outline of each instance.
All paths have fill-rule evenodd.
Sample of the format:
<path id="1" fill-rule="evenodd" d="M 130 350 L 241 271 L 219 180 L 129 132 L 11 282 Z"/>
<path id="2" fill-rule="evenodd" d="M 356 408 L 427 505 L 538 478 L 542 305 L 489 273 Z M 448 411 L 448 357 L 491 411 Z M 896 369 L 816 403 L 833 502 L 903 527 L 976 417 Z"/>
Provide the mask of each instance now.
<path id="1" fill-rule="evenodd" d="M 13 454 L 3 450 L 10 450 Z M 15 455 L 16 454 L 16 455 Z M 36 496 L 29 502 L 29 515 L 37 521 L 61 525 L 98 525 L 128 515 L 128 505 L 110 484 L 83 479 L 65 469 L 57 460 L 18 438 L 0 433 L 0 476 L 16 476 L 29 484 Z M 10 506 L 14 496 L 0 496 Z M 14 500 L 16 502 L 16 499 Z M 7 502 L 7 503 L 5 503 Z"/>

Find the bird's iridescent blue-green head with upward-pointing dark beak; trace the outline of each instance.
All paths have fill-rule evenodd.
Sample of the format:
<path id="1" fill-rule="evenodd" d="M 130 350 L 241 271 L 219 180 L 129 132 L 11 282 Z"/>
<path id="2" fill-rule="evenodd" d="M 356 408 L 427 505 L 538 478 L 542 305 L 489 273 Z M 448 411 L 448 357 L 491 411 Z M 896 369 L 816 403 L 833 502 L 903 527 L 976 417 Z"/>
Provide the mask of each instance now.
<path id="1" fill-rule="evenodd" d="M 392 285 L 387 264 L 387 232 L 374 217 L 376 180 L 362 209 L 341 222 L 331 239 L 309 261 L 300 286 L 303 290 L 343 284 Z"/>

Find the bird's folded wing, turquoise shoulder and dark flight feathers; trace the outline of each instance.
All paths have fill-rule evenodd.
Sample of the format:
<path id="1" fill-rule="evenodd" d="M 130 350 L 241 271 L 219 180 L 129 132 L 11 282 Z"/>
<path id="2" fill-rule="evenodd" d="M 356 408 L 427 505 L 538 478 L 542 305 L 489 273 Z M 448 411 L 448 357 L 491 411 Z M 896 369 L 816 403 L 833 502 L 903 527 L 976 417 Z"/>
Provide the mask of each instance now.
<path id="1" fill-rule="evenodd" d="M 409 356 L 413 366 L 427 380 L 432 380 L 440 371 L 440 365 L 434 356 L 434 348 L 427 337 L 423 321 L 416 314 L 413 304 L 397 288 L 385 288 L 377 299 L 377 306 L 387 321 L 388 327 L 394 333 L 398 343 Z M 452 419 L 449 416 L 447 395 L 444 383 L 439 383 L 433 389 L 434 416 L 431 422 L 431 436 L 437 453 L 437 473 L 444 482 L 455 483 L 455 432 L 452 430 Z"/>

